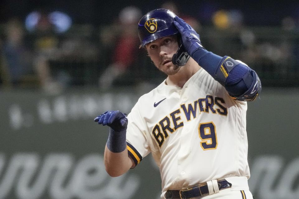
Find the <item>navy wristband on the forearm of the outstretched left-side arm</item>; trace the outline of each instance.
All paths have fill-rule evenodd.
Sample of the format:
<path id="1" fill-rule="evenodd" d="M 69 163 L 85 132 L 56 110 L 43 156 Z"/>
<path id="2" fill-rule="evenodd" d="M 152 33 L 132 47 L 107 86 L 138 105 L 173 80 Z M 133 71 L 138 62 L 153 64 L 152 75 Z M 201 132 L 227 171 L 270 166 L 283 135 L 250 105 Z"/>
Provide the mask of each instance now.
<path id="1" fill-rule="evenodd" d="M 116 131 L 110 128 L 107 148 L 113 153 L 120 153 L 126 149 L 126 128 Z"/>

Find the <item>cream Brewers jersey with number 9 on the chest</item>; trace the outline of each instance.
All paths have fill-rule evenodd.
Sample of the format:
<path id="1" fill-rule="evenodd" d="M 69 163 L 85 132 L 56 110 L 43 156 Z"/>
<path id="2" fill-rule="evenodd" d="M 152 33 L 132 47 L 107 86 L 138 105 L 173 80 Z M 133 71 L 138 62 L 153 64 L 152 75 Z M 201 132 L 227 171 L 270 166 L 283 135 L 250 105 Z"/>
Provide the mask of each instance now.
<path id="1" fill-rule="evenodd" d="M 137 165 L 152 153 L 162 197 L 169 188 L 213 179 L 243 176 L 247 183 L 246 110 L 246 102 L 233 100 L 202 68 L 183 88 L 164 81 L 128 115 L 129 154 Z"/>

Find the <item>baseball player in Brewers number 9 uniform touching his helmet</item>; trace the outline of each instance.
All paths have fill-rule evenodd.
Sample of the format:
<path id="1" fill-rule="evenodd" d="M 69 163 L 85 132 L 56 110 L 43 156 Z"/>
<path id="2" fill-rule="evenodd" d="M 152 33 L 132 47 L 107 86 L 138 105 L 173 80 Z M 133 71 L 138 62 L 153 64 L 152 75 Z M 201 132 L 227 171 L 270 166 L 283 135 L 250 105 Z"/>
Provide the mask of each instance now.
<path id="1" fill-rule="evenodd" d="M 107 172 L 115 177 L 152 153 L 162 198 L 252 199 L 247 180 L 246 110 L 261 91 L 246 64 L 207 51 L 194 29 L 166 9 L 138 24 L 140 48 L 168 77 L 131 113 L 107 111 Z"/>

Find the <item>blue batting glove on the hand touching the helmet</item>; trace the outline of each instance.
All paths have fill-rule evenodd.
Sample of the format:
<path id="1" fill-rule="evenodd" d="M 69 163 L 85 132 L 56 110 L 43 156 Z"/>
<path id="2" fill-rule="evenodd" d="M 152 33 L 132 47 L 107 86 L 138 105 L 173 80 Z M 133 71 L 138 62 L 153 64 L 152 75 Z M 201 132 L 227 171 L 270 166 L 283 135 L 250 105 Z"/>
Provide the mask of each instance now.
<path id="1" fill-rule="evenodd" d="M 200 42 L 199 35 L 189 24 L 178 16 L 175 17 L 175 21 L 173 21 L 173 23 L 181 33 L 183 45 L 191 57 L 197 49 L 204 49 Z"/>

